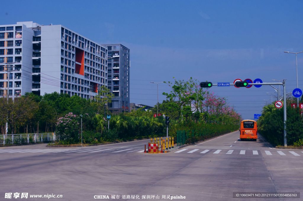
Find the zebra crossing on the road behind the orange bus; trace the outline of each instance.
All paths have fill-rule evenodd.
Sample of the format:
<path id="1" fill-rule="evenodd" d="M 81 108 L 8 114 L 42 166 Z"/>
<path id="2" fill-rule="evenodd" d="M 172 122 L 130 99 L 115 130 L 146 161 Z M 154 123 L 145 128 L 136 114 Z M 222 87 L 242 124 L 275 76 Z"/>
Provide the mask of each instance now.
<path id="1" fill-rule="evenodd" d="M 266 156 L 303 156 L 303 151 L 275 151 L 275 150 L 209 150 L 209 149 L 180 149 L 173 153 L 212 153 L 212 154 L 238 154 L 238 155 L 261 155 Z"/>

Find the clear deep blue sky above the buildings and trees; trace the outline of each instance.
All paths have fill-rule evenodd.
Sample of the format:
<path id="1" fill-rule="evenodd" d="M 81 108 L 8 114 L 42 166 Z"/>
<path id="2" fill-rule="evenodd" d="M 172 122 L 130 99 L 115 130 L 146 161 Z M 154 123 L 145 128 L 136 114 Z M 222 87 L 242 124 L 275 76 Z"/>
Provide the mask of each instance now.
<path id="1" fill-rule="evenodd" d="M 296 88 L 295 55 L 303 50 L 302 1 L 3 1 L 0 24 L 35 21 L 62 24 L 101 44 L 121 43 L 131 50 L 131 102 L 155 105 L 150 81 L 173 77 L 233 82 L 287 79 Z M 303 53 L 298 54 L 303 88 Z M 245 119 L 261 113 L 275 92 L 213 86 Z M 162 92 L 170 91 L 166 84 Z M 275 95 L 275 94 L 274 94 Z M 273 99 L 275 99 L 273 97 Z M 269 101 L 264 101 L 269 100 Z"/>

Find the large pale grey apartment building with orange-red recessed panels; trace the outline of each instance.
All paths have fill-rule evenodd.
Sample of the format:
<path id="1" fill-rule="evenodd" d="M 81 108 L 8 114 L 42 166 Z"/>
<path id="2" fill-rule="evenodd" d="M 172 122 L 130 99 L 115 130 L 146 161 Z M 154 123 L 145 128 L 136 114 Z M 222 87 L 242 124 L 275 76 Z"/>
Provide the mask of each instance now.
<path id="1" fill-rule="evenodd" d="M 0 25 L 0 96 L 65 93 L 90 99 L 107 86 L 107 46 L 63 25 Z M 1 64 L 2 63 L 2 64 Z M 7 66 L 11 63 L 8 83 Z"/>

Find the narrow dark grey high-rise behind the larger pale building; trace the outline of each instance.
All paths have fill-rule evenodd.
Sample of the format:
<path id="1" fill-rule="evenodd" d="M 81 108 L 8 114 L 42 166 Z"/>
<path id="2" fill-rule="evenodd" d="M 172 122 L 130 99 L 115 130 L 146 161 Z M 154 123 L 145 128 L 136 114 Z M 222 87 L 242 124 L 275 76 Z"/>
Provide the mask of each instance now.
<path id="1" fill-rule="evenodd" d="M 122 44 L 104 45 L 108 49 L 108 89 L 115 97 L 109 104 L 109 110 L 113 113 L 129 112 L 129 49 Z"/>

